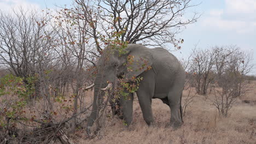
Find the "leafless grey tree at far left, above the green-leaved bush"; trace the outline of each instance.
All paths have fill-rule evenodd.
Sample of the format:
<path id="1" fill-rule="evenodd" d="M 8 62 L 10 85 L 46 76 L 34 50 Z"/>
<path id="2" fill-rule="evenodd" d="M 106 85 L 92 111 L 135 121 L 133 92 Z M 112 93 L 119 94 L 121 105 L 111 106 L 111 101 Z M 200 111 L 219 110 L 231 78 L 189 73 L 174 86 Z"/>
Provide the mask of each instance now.
<path id="1" fill-rule="evenodd" d="M 54 34 L 49 31 L 49 17 L 46 13 L 21 8 L 14 10 L 13 15 L 1 12 L 0 17 L 0 63 L 8 65 L 14 75 L 24 77 L 26 84 L 29 83 L 26 77 L 34 76 L 31 85 L 36 94 L 31 98 L 49 96 L 44 71 L 55 59 L 51 51 Z"/>

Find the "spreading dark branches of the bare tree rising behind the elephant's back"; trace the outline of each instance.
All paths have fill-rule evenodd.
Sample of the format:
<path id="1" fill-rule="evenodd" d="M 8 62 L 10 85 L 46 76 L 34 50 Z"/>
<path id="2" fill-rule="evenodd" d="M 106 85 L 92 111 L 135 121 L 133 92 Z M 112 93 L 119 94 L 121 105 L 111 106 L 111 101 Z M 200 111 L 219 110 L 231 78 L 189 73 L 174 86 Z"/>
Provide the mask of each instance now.
<path id="1" fill-rule="evenodd" d="M 77 8 L 72 11 L 90 23 L 90 35 L 98 50 L 101 43 L 109 43 L 108 39 L 157 46 L 171 43 L 179 48 L 177 44 L 183 43 L 183 39 L 176 39 L 177 33 L 199 18 L 196 13 L 190 19 L 184 18 L 185 11 L 196 6 L 190 0 L 75 0 L 75 3 Z"/>

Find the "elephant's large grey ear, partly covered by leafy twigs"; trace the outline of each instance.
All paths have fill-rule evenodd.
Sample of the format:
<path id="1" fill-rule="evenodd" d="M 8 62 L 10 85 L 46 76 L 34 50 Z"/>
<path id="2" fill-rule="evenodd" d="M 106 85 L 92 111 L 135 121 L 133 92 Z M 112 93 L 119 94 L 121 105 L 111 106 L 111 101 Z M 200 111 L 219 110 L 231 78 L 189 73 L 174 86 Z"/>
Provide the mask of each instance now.
<path id="1" fill-rule="evenodd" d="M 144 71 L 151 69 L 153 54 L 147 47 L 138 44 L 130 44 L 126 51 L 125 77 L 127 79 L 130 80 L 132 76 L 136 77 Z"/>

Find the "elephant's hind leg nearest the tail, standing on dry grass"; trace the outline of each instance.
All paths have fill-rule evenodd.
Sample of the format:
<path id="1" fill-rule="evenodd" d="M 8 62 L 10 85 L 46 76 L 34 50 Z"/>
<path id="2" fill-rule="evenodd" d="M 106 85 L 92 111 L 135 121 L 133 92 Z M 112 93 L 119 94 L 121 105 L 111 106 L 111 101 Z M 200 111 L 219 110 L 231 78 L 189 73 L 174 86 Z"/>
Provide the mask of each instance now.
<path id="1" fill-rule="evenodd" d="M 177 129 L 182 125 L 182 118 L 180 113 L 180 98 L 182 95 L 182 88 L 173 87 L 168 93 L 168 101 L 171 109 L 171 126 Z"/>

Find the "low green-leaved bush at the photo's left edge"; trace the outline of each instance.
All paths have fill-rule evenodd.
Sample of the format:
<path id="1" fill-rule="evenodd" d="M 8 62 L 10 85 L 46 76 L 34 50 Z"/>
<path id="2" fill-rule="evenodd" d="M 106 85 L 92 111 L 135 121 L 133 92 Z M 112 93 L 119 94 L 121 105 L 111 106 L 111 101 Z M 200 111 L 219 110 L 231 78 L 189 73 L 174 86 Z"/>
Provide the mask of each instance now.
<path id="1" fill-rule="evenodd" d="M 33 77 L 26 79 L 33 81 Z M 0 127 L 15 124 L 17 118 L 22 118 L 30 95 L 34 93 L 32 85 L 25 85 L 21 77 L 11 74 L 0 79 Z"/>

